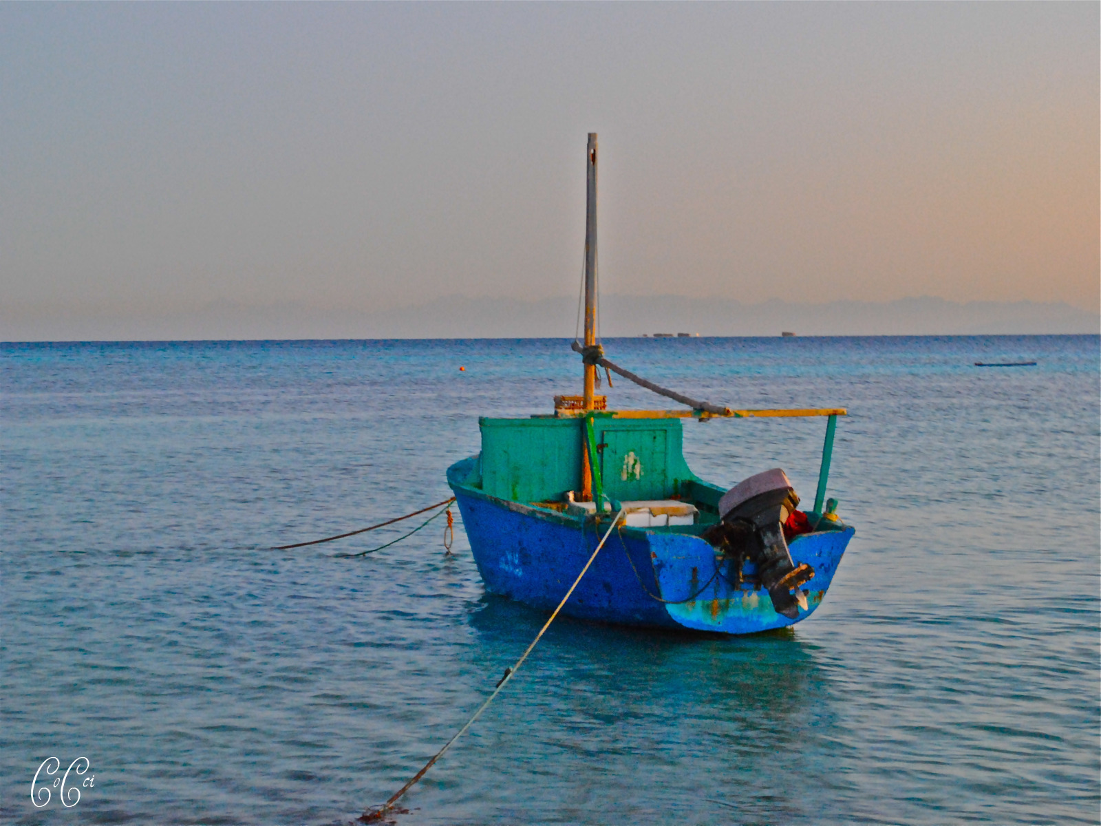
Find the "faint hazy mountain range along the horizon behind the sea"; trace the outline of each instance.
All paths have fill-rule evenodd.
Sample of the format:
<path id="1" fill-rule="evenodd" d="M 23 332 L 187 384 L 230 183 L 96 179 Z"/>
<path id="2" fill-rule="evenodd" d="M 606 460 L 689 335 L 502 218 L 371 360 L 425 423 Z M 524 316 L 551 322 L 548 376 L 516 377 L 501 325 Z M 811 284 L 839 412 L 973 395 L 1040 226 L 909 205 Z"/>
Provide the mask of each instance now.
<path id="1" fill-rule="evenodd" d="M 919 297 L 824 304 L 677 295 L 607 295 L 601 335 L 694 333 L 701 336 L 981 335 L 1101 333 L 1101 315 L 1064 303 L 968 302 Z M 0 311 L 0 340 L 175 340 L 281 338 L 568 338 L 573 298 L 445 296 L 381 312 L 296 304 L 228 302 L 167 315 L 28 315 Z"/>

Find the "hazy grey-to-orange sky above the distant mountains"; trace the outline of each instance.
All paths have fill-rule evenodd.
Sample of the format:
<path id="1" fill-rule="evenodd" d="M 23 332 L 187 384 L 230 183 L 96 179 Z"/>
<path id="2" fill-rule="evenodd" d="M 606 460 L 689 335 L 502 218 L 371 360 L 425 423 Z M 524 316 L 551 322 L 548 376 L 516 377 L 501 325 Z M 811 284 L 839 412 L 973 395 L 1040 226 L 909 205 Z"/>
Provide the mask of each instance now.
<path id="1" fill-rule="evenodd" d="M 9 312 L 1099 302 L 1101 6 L 0 6 Z M 568 335 L 573 330 L 566 330 Z"/>

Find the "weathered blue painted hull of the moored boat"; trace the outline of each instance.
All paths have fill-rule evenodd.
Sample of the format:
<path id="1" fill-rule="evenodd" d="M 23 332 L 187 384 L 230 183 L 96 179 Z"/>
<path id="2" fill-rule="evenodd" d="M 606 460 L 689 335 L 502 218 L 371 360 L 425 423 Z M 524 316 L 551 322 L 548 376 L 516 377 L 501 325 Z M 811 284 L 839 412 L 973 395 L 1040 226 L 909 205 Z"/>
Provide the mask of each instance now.
<path id="1" fill-rule="evenodd" d="M 448 469 L 475 562 L 492 594 L 553 610 L 592 554 L 608 523 L 491 497 L 464 483 L 471 459 Z M 796 619 L 776 613 L 767 591 L 734 585 L 737 572 L 715 548 L 677 529 L 621 528 L 581 579 L 564 613 L 599 622 L 754 633 L 799 622 L 821 605 L 853 534 L 809 533 L 791 543 L 807 563 L 807 608 Z"/>

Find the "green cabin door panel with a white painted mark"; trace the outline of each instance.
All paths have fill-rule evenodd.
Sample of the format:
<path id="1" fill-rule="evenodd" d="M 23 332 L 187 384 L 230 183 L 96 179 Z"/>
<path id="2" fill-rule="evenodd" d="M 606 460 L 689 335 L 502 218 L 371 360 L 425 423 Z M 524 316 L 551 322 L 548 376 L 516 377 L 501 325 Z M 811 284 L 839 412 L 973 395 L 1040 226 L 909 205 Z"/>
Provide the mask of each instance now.
<path id="1" fill-rule="evenodd" d="M 612 499 L 665 499 L 668 490 L 665 430 L 602 431 L 600 480 Z"/>

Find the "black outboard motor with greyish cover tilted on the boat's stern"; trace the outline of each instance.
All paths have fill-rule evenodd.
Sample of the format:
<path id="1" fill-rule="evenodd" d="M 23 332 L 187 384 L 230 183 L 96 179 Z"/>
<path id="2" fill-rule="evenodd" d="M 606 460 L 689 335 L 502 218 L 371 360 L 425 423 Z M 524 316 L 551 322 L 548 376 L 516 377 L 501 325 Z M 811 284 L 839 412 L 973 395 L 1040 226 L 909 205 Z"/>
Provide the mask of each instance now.
<path id="1" fill-rule="evenodd" d="M 798 503 L 787 474 L 780 468 L 765 470 L 723 494 L 721 521 L 704 533 L 704 539 L 739 561 L 739 576 L 743 563 L 753 563 L 776 613 L 791 619 L 799 616 L 799 608 L 807 609 L 803 585 L 815 575 L 806 563 L 796 567 L 784 540 L 784 523 Z"/>

